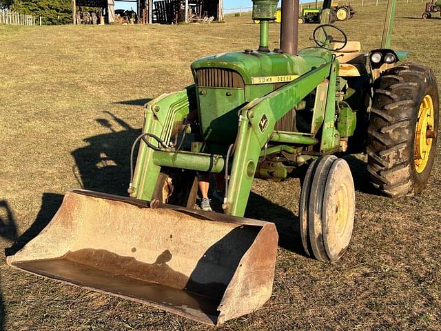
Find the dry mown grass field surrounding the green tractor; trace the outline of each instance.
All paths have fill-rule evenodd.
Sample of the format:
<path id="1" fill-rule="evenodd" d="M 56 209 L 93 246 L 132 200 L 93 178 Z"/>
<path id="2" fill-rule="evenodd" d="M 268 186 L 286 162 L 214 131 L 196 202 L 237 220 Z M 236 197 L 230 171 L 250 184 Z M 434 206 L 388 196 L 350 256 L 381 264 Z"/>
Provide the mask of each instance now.
<path id="1" fill-rule="evenodd" d="M 399 4 L 393 46 L 441 79 L 441 21 L 418 19 L 422 6 Z M 367 6 L 338 25 L 364 50 L 378 47 L 382 10 Z M 300 46 L 311 45 L 314 28 L 300 26 Z M 269 40 L 277 46 L 278 25 Z M 0 26 L 1 252 L 41 230 L 69 188 L 125 194 L 143 103 L 192 83 L 192 60 L 257 42 L 249 17 L 190 26 Z M 219 330 L 441 330 L 440 157 L 427 190 L 402 199 L 373 192 L 362 159 L 349 159 L 356 223 L 349 251 L 334 264 L 300 249 L 298 180 L 255 181 L 247 217 L 280 230 L 273 296 Z M 209 328 L 12 270 L 1 257 L 0 330 Z"/>

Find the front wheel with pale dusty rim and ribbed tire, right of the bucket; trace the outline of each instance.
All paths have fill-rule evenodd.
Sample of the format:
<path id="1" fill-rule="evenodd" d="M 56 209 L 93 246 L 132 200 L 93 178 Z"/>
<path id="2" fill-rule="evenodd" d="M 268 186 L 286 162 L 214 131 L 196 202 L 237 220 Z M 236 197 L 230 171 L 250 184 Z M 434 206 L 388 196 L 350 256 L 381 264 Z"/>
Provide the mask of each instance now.
<path id="1" fill-rule="evenodd" d="M 352 237 L 355 189 L 349 165 L 327 155 L 314 160 L 300 193 L 300 235 L 305 252 L 319 261 L 337 261 Z"/>

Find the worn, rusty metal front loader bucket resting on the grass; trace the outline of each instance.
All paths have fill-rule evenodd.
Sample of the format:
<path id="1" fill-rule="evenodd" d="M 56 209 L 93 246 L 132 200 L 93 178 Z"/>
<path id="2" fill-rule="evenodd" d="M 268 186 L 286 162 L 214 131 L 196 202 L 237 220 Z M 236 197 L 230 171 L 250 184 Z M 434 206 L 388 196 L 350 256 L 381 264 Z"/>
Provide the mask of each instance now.
<path id="1" fill-rule="evenodd" d="M 72 191 L 9 265 L 219 325 L 271 295 L 274 223 Z"/>

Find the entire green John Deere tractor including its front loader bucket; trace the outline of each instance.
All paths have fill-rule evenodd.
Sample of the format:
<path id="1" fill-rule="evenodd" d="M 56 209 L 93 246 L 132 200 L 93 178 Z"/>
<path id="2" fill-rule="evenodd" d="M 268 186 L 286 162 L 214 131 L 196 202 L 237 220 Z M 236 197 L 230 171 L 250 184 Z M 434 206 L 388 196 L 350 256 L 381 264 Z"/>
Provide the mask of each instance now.
<path id="1" fill-rule="evenodd" d="M 395 0 L 381 46 L 366 52 L 329 24 L 329 0 L 315 46 L 302 50 L 298 1 L 284 0 L 280 48 L 270 50 L 277 4 L 253 1 L 256 50 L 198 59 L 194 84 L 147 103 L 130 197 L 69 192 L 8 264 L 218 325 L 271 296 L 275 225 L 243 218 L 255 178 L 302 174 L 299 240 L 320 261 L 340 259 L 351 240 L 355 190 L 342 156 L 367 153 L 382 194 L 422 192 L 435 157 L 438 86 L 431 69 L 391 48 Z M 223 213 L 193 209 L 198 174 L 207 173 L 225 180 Z"/>

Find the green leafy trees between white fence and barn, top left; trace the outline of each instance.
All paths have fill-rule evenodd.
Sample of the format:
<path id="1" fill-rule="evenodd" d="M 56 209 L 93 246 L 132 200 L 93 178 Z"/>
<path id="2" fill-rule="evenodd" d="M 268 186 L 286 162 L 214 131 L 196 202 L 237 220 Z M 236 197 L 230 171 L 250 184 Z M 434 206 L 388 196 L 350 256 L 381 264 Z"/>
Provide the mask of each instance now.
<path id="1" fill-rule="evenodd" d="M 70 0 L 0 0 L 10 1 L 10 9 L 40 17 L 44 24 L 72 23 Z"/>

